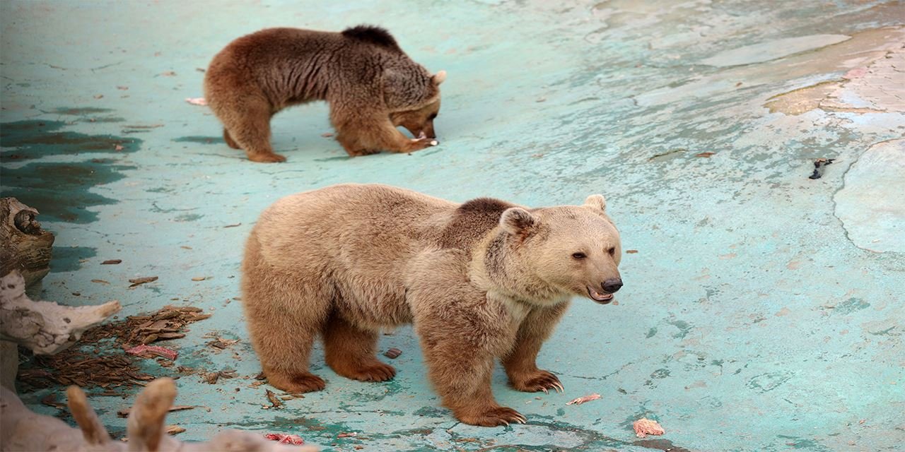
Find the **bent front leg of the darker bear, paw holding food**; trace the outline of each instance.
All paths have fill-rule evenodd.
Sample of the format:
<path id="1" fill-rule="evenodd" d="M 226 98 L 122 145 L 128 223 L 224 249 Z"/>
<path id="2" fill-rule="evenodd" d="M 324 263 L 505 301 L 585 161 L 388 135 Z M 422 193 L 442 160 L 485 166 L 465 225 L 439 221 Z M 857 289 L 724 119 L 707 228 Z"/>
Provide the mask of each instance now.
<path id="1" fill-rule="evenodd" d="M 375 154 L 382 150 L 414 152 L 438 144 L 436 138 L 405 137 L 386 115 L 383 118 L 377 113 L 348 116 L 338 111 L 330 112 L 330 119 L 337 130 L 337 141 L 351 156 Z"/>

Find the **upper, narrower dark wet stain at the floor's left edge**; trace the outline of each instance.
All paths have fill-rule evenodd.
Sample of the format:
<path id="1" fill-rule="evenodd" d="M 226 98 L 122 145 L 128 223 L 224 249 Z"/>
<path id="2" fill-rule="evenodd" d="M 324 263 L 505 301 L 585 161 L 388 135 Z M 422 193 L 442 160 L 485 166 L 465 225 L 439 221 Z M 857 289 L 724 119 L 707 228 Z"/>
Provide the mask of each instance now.
<path id="1" fill-rule="evenodd" d="M 37 119 L 3 123 L 0 125 L 0 142 L 3 147 L 14 148 L 4 151 L 4 160 L 8 162 L 81 153 L 130 153 L 137 151 L 141 143 L 136 138 L 61 131 L 65 125 L 62 121 Z"/>

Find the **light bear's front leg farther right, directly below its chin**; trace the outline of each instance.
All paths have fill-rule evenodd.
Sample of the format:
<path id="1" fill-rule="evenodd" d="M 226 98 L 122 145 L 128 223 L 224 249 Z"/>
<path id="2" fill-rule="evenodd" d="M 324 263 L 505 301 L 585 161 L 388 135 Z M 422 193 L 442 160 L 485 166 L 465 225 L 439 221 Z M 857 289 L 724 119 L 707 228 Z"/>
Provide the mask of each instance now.
<path id="1" fill-rule="evenodd" d="M 557 376 L 538 369 L 536 361 L 540 346 L 553 333 L 553 328 L 567 307 L 568 303 L 561 303 L 557 306 L 536 308 L 522 321 L 515 347 L 502 359 L 513 388 L 527 392 L 563 391 L 563 385 Z"/>

